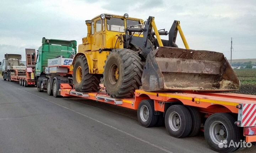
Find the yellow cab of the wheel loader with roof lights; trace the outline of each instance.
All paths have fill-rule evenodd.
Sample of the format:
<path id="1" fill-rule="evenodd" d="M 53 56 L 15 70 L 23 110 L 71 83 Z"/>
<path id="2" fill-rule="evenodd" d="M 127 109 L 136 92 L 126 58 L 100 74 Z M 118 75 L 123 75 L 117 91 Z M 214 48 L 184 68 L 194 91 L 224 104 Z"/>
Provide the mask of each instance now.
<path id="1" fill-rule="evenodd" d="M 87 37 L 82 38 L 81 51 L 110 50 L 124 48 L 122 35 L 127 27 L 143 28 L 143 20 L 124 16 L 101 14 L 92 20 L 86 20 Z M 143 37 L 143 33 L 134 33 Z"/>

